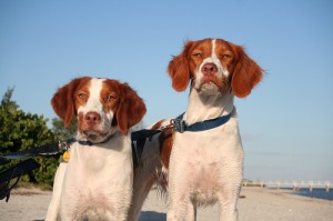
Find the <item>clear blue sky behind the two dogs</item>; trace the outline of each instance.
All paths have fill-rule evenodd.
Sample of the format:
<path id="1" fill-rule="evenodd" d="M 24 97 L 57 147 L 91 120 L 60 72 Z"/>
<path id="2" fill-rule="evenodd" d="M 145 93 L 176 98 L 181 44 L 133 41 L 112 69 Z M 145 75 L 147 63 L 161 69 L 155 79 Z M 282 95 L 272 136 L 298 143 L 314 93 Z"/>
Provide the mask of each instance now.
<path id="1" fill-rule="evenodd" d="M 167 66 L 186 39 L 245 46 L 266 71 L 236 99 L 245 177 L 333 180 L 333 1 L 0 1 L 0 96 L 54 118 L 57 88 L 80 76 L 129 82 L 144 124 L 186 108 Z M 190 147 L 189 147 L 190 148 Z"/>

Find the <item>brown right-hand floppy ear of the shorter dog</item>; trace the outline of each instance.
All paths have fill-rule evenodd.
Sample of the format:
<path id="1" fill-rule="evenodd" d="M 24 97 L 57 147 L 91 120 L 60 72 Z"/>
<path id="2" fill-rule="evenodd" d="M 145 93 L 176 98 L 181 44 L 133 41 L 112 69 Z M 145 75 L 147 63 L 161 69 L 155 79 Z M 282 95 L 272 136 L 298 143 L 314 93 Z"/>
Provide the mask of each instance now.
<path id="1" fill-rule="evenodd" d="M 142 120 L 145 113 L 145 106 L 138 93 L 127 83 L 120 84 L 120 89 L 121 100 L 117 111 L 117 122 L 120 131 L 127 134 L 131 127 Z"/>

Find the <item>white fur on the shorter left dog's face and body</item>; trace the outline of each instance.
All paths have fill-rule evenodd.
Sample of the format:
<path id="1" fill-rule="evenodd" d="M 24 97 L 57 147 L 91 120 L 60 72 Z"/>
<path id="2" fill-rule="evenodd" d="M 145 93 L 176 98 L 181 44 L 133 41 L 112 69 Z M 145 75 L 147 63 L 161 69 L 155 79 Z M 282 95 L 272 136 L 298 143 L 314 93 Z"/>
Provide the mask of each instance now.
<path id="1" fill-rule="evenodd" d="M 103 119 L 99 127 L 113 137 L 105 143 L 71 145 L 69 162 L 58 168 L 46 221 L 127 220 L 133 183 L 131 140 L 111 128 L 113 112 L 105 113 L 100 103 L 102 81 L 91 80 L 89 101 L 79 111 L 98 112 Z"/>

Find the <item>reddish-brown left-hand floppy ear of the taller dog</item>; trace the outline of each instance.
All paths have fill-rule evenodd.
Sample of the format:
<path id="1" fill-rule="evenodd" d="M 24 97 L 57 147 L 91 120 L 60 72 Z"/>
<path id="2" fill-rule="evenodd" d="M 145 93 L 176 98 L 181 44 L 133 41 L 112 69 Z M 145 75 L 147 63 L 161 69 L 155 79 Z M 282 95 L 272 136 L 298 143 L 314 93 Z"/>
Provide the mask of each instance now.
<path id="1" fill-rule="evenodd" d="M 183 51 L 179 56 L 173 57 L 173 59 L 169 62 L 168 72 L 172 80 L 172 87 L 178 92 L 184 91 L 190 82 L 188 57 L 192 44 L 192 41 L 188 41 Z"/>

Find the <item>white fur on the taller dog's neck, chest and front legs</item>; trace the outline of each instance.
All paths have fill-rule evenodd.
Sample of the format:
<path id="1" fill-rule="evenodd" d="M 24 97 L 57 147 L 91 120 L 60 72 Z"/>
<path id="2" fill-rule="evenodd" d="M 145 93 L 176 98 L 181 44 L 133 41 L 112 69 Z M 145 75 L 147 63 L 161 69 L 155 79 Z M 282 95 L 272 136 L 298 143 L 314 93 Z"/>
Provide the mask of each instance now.
<path id="1" fill-rule="evenodd" d="M 233 94 L 216 94 L 206 103 L 199 97 L 196 90 L 192 90 L 184 117 L 188 122 L 200 122 L 232 111 Z M 236 220 L 242 173 L 243 149 L 235 110 L 219 128 L 175 133 L 169 168 L 168 221 L 195 220 L 198 205 L 216 201 L 221 207 L 220 220 Z"/>

